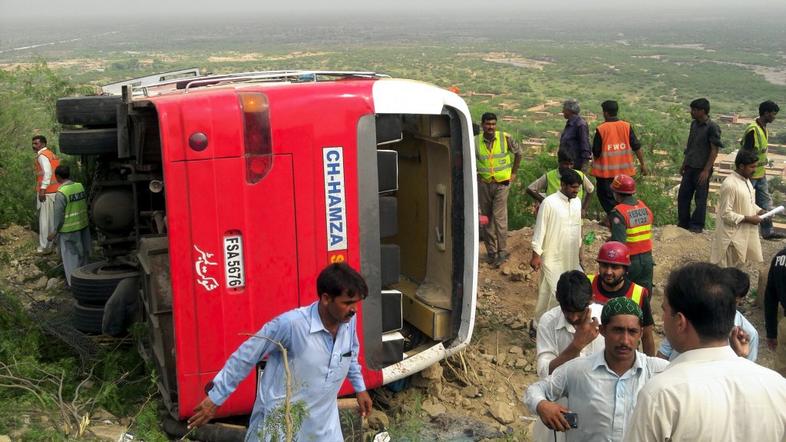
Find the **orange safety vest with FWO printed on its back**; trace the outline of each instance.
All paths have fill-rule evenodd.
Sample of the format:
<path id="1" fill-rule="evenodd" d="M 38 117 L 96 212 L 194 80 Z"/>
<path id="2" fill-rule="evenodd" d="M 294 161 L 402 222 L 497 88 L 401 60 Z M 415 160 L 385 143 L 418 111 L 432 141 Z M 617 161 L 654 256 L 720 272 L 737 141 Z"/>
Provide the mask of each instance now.
<path id="1" fill-rule="evenodd" d="M 630 123 L 627 121 L 606 121 L 598 126 L 598 134 L 603 142 L 599 158 L 592 161 L 591 174 L 598 178 L 614 178 L 619 174 L 633 176 L 633 150 L 630 143 Z"/>

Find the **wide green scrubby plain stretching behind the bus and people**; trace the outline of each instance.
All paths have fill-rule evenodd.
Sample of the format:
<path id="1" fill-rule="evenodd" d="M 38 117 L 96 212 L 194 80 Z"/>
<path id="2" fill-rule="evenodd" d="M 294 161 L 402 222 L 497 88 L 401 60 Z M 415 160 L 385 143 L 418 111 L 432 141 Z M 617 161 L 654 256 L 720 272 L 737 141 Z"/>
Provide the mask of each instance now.
<path id="1" fill-rule="evenodd" d="M 514 188 L 513 228 L 533 222 L 530 201 L 521 185 L 554 165 L 551 153 L 564 126 L 559 103 L 578 99 L 593 131 L 598 124 L 594 118 L 602 118 L 600 103 L 619 101 L 620 116 L 633 123 L 648 162 L 657 165 L 655 176 L 647 178 L 643 186 L 644 199 L 659 209 L 656 222 L 668 224 L 674 222 L 675 210 L 664 195 L 673 187 L 670 177 L 681 161 L 689 124 L 688 103 L 707 97 L 713 115 L 755 117 L 763 100 L 786 102 L 786 59 L 782 49 L 776 49 L 786 47 L 778 46 L 786 38 L 758 39 L 742 24 L 727 24 L 731 32 L 726 28 L 721 32 L 717 23 L 710 22 L 707 29 L 698 27 L 681 34 L 676 33 L 679 23 L 665 27 L 642 24 L 649 33 L 636 30 L 632 34 L 635 38 L 624 32 L 612 35 L 602 31 L 585 31 L 585 35 L 570 38 L 545 30 L 541 30 L 544 35 L 538 35 L 538 25 L 522 25 L 526 31 L 514 33 L 516 38 L 498 40 L 494 31 L 484 34 L 470 22 L 456 26 L 460 30 L 451 31 L 443 24 L 434 27 L 433 35 L 402 37 L 422 34 L 426 24 L 415 20 L 396 33 L 394 24 L 387 22 L 377 25 L 374 32 L 355 23 L 345 25 L 345 33 L 337 33 L 326 25 L 308 27 L 306 23 L 303 28 L 292 28 L 278 23 L 270 29 L 272 39 L 264 38 L 264 23 L 241 22 L 225 34 L 221 28 L 194 34 L 185 27 L 164 30 L 155 23 L 128 24 L 106 28 L 112 31 L 100 26 L 87 28 L 81 31 L 86 37 L 75 42 L 6 49 L 0 53 L 4 66 L 0 94 L 7 103 L 0 119 L 0 149 L 12 153 L 2 156 L 6 161 L 9 157 L 14 161 L 3 169 L 14 183 L 21 183 L 25 176 L 17 173 L 22 164 L 18 161 L 27 160 L 18 159 L 18 152 L 25 150 L 18 146 L 28 145 L 30 135 L 39 132 L 56 140 L 57 126 L 51 119 L 54 100 L 91 86 L 183 67 L 213 73 L 371 70 L 457 87 L 476 119 L 493 111 L 503 120 L 501 127 L 516 138 L 545 138 L 545 153 L 527 152 L 529 158 Z M 506 25 L 518 26 L 515 20 Z M 675 33 L 669 32 L 669 27 Z M 54 28 L 53 34 L 63 39 L 60 41 L 73 36 L 67 30 L 61 30 L 62 35 L 57 32 Z M 6 41 L 12 46 L 31 43 Z M 528 111 L 544 103 L 548 103 L 544 109 Z M 15 115 L 24 115 L 25 121 L 14 120 Z M 775 142 L 786 141 L 781 121 L 771 126 Z M 744 126 L 722 127 L 724 142 L 731 150 Z M 545 157 L 536 158 L 539 154 Z M 15 196 L 24 193 L 19 190 Z M 0 222 L 29 222 L 31 212 L 25 209 L 26 204 L 5 205 L 13 210 L 6 210 L 10 213 L 0 216 Z M 590 213 L 597 210 L 594 203 Z"/>

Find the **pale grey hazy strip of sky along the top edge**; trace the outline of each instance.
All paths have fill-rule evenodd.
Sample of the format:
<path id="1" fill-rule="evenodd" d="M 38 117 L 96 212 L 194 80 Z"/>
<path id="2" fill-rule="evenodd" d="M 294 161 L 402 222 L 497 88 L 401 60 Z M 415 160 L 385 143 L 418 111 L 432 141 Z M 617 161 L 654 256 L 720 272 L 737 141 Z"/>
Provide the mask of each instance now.
<path id="1" fill-rule="evenodd" d="M 786 15 L 784 0 L 758 0 L 756 10 L 777 9 Z M 704 10 L 715 14 L 724 9 L 747 9 L 739 0 L 0 0 L 2 20 L 39 18 L 75 19 L 122 16 L 182 16 L 232 13 L 301 15 L 333 12 L 337 14 L 401 13 L 437 14 L 470 13 L 488 15 L 491 20 L 499 11 L 556 12 L 580 10 L 615 10 L 641 13 L 667 11 L 679 13 Z"/>

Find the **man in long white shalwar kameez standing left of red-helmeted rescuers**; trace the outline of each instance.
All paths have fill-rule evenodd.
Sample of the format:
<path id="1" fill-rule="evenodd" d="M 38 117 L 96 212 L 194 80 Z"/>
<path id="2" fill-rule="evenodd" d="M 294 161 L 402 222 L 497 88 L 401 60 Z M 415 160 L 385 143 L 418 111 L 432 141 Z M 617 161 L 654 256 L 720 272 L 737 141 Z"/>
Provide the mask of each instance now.
<path id="1" fill-rule="evenodd" d="M 547 196 L 538 210 L 530 260 L 532 269 L 540 270 L 538 303 L 533 320 L 536 326 L 543 313 L 558 305 L 555 293 L 560 275 L 570 270 L 582 270 L 579 262 L 581 201 L 576 198 L 581 181 L 573 169 L 560 171 L 560 191 Z"/>

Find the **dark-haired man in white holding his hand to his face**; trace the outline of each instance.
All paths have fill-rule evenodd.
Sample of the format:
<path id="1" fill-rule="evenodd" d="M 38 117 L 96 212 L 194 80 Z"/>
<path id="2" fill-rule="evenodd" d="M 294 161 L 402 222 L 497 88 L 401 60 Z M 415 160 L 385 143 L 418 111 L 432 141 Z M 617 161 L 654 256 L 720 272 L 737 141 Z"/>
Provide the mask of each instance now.
<path id="1" fill-rule="evenodd" d="M 592 302 L 592 287 L 587 275 L 578 270 L 563 273 L 557 281 L 559 306 L 547 311 L 538 323 L 536 340 L 538 377 L 545 379 L 566 362 L 603 351 L 599 336 L 603 306 Z M 559 401 L 567 405 L 567 401 Z M 551 442 L 552 432 L 537 421 L 532 429 L 533 440 Z M 564 441 L 564 434 L 557 435 Z"/>

